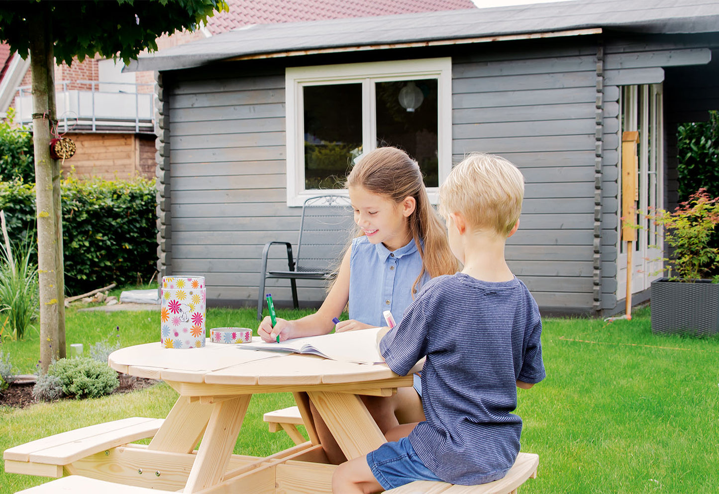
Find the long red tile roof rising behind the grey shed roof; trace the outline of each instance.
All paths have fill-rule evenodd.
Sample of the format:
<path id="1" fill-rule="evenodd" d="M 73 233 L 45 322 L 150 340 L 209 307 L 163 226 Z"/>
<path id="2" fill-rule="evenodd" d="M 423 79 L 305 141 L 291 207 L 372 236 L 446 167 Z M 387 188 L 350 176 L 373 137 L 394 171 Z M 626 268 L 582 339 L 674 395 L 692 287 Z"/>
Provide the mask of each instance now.
<path id="1" fill-rule="evenodd" d="M 474 9 L 472 0 L 227 0 L 229 12 L 211 17 L 212 35 L 249 24 Z"/>

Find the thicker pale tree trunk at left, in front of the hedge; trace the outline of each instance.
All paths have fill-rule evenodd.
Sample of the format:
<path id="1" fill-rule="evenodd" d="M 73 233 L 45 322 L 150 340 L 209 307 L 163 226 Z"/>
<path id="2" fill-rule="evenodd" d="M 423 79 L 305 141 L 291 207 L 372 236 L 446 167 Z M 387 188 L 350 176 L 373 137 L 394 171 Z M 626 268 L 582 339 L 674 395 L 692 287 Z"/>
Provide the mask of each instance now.
<path id="1" fill-rule="evenodd" d="M 43 3 L 29 19 L 32 67 L 32 143 L 35 149 L 35 196 L 37 209 L 37 273 L 40 281 L 40 369 L 47 372 L 59 356 L 57 234 L 52 198 L 52 159 L 50 158 L 50 116 L 48 78 L 54 70 L 50 15 Z M 54 88 L 53 88 L 54 89 Z M 54 100 L 54 98 L 53 98 Z"/>

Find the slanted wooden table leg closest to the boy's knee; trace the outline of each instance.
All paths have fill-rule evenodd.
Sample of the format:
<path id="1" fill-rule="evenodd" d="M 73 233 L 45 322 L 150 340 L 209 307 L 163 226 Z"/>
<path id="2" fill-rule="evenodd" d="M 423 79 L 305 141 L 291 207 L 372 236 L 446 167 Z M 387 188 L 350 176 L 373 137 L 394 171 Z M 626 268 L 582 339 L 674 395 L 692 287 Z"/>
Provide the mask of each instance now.
<path id="1" fill-rule="evenodd" d="M 386 442 L 359 396 L 329 391 L 308 391 L 308 395 L 347 459 L 367 454 Z"/>

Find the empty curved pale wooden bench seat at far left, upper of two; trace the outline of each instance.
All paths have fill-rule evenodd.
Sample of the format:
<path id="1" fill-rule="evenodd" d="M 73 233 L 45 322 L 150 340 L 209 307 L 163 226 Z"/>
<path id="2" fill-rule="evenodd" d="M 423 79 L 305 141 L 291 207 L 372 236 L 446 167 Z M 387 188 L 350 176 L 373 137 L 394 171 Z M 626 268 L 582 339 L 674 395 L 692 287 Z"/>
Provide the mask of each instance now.
<path id="1" fill-rule="evenodd" d="M 91 454 L 155 436 L 163 418 L 131 417 L 61 432 L 19 444 L 3 453 L 5 471 L 62 477 L 63 465 Z"/>

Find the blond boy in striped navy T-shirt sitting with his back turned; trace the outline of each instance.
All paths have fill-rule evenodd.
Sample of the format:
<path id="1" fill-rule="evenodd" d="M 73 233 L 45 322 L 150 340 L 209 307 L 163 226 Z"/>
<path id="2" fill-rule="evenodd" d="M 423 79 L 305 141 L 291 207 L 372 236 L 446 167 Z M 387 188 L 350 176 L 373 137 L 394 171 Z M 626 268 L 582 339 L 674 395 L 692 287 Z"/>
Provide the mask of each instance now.
<path id="1" fill-rule="evenodd" d="M 539 308 L 504 258 L 523 196 L 520 171 L 493 155 L 468 156 L 441 186 L 449 246 L 464 269 L 427 283 L 400 324 L 379 336 L 386 334 L 380 352 L 399 375 L 426 356 L 426 421 L 388 431 L 393 442 L 339 465 L 333 493 L 375 493 L 413 480 L 482 484 L 512 467 L 522 429 L 510 413 L 516 388 L 545 376 Z"/>

